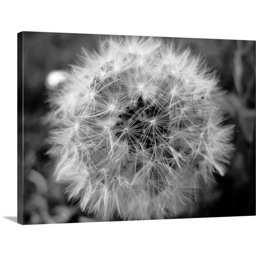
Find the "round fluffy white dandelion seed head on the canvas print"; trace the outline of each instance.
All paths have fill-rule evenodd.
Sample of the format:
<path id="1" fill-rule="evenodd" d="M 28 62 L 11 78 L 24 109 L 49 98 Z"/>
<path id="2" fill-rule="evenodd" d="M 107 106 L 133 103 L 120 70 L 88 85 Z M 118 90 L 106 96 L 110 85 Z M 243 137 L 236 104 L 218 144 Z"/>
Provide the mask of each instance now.
<path id="1" fill-rule="evenodd" d="M 189 49 L 154 38 L 110 37 L 82 60 L 49 99 L 51 151 L 69 197 L 104 220 L 190 209 L 232 152 L 217 78 Z"/>

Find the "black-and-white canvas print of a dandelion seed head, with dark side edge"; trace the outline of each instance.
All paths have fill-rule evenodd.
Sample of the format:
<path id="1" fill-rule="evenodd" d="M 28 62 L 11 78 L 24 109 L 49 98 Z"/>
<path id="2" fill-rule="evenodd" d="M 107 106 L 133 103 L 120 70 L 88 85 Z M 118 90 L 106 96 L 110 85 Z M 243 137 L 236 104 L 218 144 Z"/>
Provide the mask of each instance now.
<path id="1" fill-rule="evenodd" d="M 255 41 L 18 34 L 18 222 L 255 215 Z"/>

